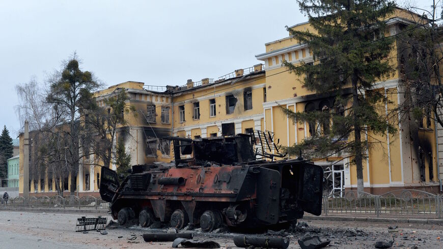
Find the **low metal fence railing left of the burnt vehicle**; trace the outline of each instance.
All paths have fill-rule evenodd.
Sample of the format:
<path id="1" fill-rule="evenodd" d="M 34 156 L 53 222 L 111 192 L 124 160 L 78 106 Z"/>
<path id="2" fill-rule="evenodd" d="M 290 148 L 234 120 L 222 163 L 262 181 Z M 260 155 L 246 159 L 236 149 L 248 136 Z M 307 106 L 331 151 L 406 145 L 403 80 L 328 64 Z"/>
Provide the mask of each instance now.
<path id="1" fill-rule="evenodd" d="M 27 198 L 16 197 L 4 200 L 0 197 L 0 209 L 5 207 L 26 208 L 63 208 L 63 209 L 108 209 L 109 205 L 101 198 L 93 196 L 30 196 Z"/>

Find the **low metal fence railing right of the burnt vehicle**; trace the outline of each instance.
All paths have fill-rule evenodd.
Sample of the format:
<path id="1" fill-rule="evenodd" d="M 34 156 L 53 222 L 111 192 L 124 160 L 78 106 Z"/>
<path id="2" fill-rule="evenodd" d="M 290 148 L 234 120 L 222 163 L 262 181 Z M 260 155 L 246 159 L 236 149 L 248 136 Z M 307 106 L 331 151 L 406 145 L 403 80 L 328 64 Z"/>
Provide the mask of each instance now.
<path id="1" fill-rule="evenodd" d="M 400 189 L 372 195 L 356 190 L 343 190 L 323 197 L 324 215 L 365 215 L 441 218 L 443 196 Z"/>

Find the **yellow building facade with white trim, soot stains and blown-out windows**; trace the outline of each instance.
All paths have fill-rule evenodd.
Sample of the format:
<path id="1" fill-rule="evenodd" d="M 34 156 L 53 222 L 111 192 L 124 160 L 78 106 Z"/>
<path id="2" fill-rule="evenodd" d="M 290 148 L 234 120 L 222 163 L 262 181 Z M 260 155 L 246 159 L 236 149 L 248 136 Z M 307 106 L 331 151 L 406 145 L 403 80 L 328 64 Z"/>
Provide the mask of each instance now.
<path id="1" fill-rule="evenodd" d="M 387 23 L 390 35 L 398 34 L 411 23 L 411 13 L 397 9 Z M 293 30 L 309 30 L 309 23 L 290 27 Z M 393 66 L 398 68 L 402 56 L 399 42 L 391 54 Z M 95 94 L 99 105 L 106 107 L 104 99 L 124 89 L 128 103 L 135 111 L 125 113 L 128 122 L 120 127 L 117 136 L 122 137 L 131 163 L 144 164 L 169 162 L 174 158 L 170 141 L 165 136 L 199 139 L 226 134 L 248 133 L 252 130 L 269 130 L 274 140 L 283 146 L 309 139 L 313 127 L 308 123 L 293 122 L 282 112 L 282 107 L 295 112 L 333 107 L 330 99 L 308 91 L 302 86 L 303 79 L 288 72 L 283 61 L 297 65 L 313 62 L 312 52 L 306 44 L 286 37 L 265 44 L 265 51 L 256 56 L 264 65 L 235 70 L 217 80 L 204 78 L 188 80 L 183 86 L 146 86 L 143 82 L 127 81 Z M 390 100 L 385 112 L 404 102 L 401 72 L 397 69 L 389 78 L 374 86 Z M 418 188 L 438 192 L 440 172 L 443 172 L 443 139 L 437 134 L 436 124 L 429 120 L 414 122 L 402 119 L 397 123 L 396 134 L 366 134 L 369 142 L 383 141 L 372 146 L 364 160 L 365 191 L 377 194 L 399 188 Z M 438 141 L 437 141 L 438 136 Z M 23 138 L 20 136 L 20 150 Z M 439 153 L 437 153 L 439 152 Z M 20 153 L 22 155 L 23 153 Z M 79 196 L 98 196 L 100 167 L 91 163 L 96 158 L 82 158 L 76 181 Z M 30 160 L 32 161 L 32 160 Z M 20 157 L 20 172 L 23 158 Z M 355 189 L 357 184 L 355 165 L 345 156 L 316 160 L 325 170 L 329 193 L 343 189 Z M 33 165 L 30 165 L 33 167 Z M 111 163 L 110 168 L 117 165 Z M 21 176 L 21 173 L 20 173 Z M 69 178 L 68 181 L 70 181 Z M 53 179 L 30 179 L 33 195 L 54 195 Z M 70 183 L 66 191 L 70 191 Z M 20 183 L 20 192 L 22 192 Z"/>

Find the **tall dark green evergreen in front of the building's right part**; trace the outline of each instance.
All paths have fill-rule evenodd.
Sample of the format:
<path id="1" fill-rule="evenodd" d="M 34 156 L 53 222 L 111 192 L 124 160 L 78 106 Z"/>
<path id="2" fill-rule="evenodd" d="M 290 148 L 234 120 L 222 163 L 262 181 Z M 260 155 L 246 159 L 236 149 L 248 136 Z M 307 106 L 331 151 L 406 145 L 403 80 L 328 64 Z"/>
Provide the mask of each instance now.
<path id="1" fill-rule="evenodd" d="M 349 156 L 356 165 L 357 190 L 363 191 L 362 161 L 370 146 L 367 134 L 395 131 L 386 120 L 384 92 L 373 89 L 375 82 L 394 70 L 389 55 L 395 39 L 385 35 L 389 34 L 386 20 L 395 4 L 386 0 L 297 2 L 309 17 L 312 30 L 287 30 L 293 39 L 309 46 L 314 63 L 284 65 L 305 76 L 304 87 L 328 96 L 334 104 L 310 112 L 284 109 L 294 120 L 306 121 L 313 133 L 301 144 L 288 147 L 287 152 L 301 151 L 311 157 Z"/>

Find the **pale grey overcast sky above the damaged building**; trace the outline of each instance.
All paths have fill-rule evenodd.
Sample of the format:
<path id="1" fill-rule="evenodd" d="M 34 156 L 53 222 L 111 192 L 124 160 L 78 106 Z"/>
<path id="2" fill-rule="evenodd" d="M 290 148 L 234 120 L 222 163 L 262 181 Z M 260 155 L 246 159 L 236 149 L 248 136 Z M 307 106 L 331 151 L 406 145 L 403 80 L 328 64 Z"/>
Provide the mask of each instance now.
<path id="1" fill-rule="evenodd" d="M 261 63 L 266 42 L 304 21 L 294 0 L 0 0 L 0 126 L 16 137 L 15 85 L 43 83 L 74 51 L 106 86 L 184 85 Z"/>

